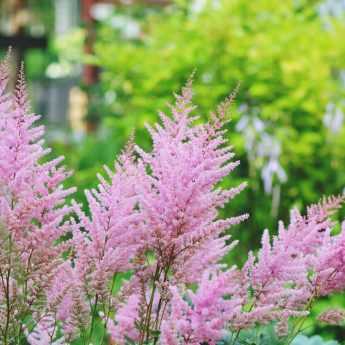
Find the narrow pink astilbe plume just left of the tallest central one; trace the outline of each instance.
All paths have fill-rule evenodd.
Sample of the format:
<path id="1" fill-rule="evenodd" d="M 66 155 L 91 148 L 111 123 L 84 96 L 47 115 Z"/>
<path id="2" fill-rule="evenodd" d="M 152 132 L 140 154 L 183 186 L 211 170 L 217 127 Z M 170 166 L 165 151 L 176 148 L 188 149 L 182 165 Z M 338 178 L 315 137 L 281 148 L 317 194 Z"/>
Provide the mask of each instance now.
<path id="1" fill-rule="evenodd" d="M 142 242 L 143 216 L 135 191 L 139 174 L 132 158 L 125 152 L 115 164 L 116 173 L 106 171 L 110 182 L 99 176 L 98 188 L 86 191 L 90 218 L 75 205 L 80 218 L 74 231 L 76 270 L 88 295 L 106 294 L 113 275 L 132 268 Z"/>

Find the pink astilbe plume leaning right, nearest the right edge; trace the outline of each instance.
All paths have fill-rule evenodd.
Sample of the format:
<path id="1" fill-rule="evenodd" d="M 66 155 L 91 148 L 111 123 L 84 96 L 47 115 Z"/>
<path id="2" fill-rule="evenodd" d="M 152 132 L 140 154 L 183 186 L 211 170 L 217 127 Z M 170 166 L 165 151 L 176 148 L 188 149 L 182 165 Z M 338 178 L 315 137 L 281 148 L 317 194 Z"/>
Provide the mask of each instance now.
<path id="1" fill-rule="evenodd" d="M 327 253 L 336 252 L 329 250 L 330 243 L 338 242 L 338 236 L 331 236 L 334 223 L 330 216 L 342 202 L 342 197 L 325 199 L 309 207 L 306 216 L 293 210 L 289 226 L 285 228 L 280 223 L 272 243 L 268 231 L 264 232 L 257 260 L 250 255 L 243 268 L 250 290 L 246 301 L 250 308 L 243 316 L 246 317 L 244 321 L 248 316 L 251 321 L 243 322 L 243 328 L 254 322 L 302 316 L 308 311 L 312 300 L 320 295 L 320 289 L 324 289 L 318 272 L 320 263 L 329 256 Z M 334 277 L 329 273 L 332 271 L 330 263 L 327 263 L 327 270 L 325 275 L 334 284 Z M 262 312 L 258 312 L 260 308 L 264 308 Z"/>

